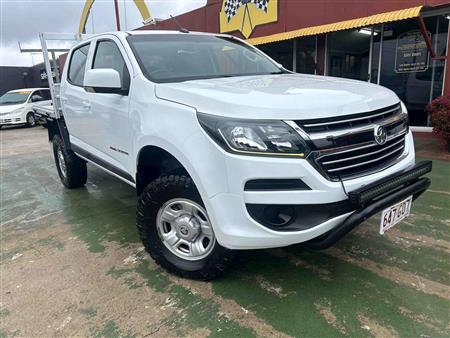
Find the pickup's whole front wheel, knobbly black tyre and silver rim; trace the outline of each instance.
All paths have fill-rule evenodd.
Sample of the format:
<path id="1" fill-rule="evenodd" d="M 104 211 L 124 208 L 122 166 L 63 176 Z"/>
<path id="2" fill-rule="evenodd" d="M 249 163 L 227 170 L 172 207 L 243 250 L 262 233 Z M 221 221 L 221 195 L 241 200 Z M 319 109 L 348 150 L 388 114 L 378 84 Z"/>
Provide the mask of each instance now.
<path id="1" fill-rule="evenodd" d="M 150 256 L 178 276 L 212 280 L 231 265 L 234 251 L 216 240 L 190 177 L 162 176 L 142 192 L 137 227 Z"/>

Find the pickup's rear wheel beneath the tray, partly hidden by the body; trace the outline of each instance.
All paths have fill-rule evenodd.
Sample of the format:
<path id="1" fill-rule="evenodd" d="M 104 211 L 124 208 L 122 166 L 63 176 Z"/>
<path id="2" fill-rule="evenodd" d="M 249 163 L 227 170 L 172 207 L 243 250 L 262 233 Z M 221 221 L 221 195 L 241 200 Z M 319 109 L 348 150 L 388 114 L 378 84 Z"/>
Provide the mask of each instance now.
<path id="1" fill-rule="evenodd" d="M 53 155 L 59 178 L 66 188 L 79 188 L 86 184 L 86 161 L 67 149 L 59 135 L 53 137 Z"/>

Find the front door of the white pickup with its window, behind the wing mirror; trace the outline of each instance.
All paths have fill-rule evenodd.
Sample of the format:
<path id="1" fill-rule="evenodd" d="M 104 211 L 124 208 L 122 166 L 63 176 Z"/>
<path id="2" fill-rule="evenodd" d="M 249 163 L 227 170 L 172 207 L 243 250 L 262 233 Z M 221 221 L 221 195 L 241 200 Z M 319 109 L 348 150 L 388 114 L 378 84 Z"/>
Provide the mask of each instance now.
<path id="1" fill-rule="evenodd" d="M 91 68 L 116 70 L 120 75 L 122 93 L 87 93 L 86 100 L 91 106 L 96 131 L 96 137 L 91 142 L 106 160 L 126 171 L 131 147 L 128 118 L 131 63 L 116 37 L 101 38 L 93 44 Z"/>

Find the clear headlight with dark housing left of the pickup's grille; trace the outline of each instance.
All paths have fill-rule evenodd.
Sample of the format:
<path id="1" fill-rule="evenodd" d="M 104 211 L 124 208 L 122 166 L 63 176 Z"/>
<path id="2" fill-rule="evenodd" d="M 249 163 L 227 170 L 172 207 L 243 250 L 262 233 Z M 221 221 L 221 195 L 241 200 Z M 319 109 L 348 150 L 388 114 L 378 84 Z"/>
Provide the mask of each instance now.
<path id="1" fill-rule="evenodd" d="M 203 129 L 230 152 L 306 157 L 308 147 L 300 135 L 282 121 L 243 120 L 198 113 Z"/>

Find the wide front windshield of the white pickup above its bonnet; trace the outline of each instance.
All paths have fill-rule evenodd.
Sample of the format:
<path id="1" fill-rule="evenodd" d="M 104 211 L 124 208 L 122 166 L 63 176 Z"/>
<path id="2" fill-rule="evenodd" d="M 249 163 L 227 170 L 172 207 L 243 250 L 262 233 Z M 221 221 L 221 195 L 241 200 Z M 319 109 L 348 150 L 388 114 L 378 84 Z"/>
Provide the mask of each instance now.
<path id="1" fill-rule="evenodd" d="M 284 72 L 257 49 L 228 37 L 153 34 L 127 39 L 144 75 L 154 82 Z"/>

